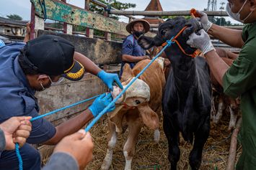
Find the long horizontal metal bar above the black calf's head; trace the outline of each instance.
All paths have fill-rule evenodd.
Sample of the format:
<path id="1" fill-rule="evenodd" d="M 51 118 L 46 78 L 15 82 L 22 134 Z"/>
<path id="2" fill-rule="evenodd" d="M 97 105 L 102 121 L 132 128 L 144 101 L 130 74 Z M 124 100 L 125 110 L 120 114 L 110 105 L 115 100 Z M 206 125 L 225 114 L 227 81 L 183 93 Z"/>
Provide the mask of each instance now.
<path id="1" fill-rule="evenodd" d="M 203 11 L 208 16 L 228 16 L 226 11 Z M 110 9 L 110 14 L 115 15 L 143 15 L 143 16 L 190 16 L 187 11 L 120 11 Z"/>

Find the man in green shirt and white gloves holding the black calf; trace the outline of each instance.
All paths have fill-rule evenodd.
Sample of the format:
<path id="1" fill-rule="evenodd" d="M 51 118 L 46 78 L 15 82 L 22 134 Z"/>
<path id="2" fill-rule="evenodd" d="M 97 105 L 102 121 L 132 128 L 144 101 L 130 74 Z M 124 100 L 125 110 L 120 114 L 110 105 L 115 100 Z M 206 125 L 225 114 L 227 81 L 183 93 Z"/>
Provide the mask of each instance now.
<path id="1" fill-rule="evenodd" d="M 224 93 L 241 97 L 242 128 L 239 141 L 242 155 L 237 169 L 256 169 L 256 0 L 229 0 L 226 11 L 231 18 L 246 24 L 244 29 L 234 30 L 220 27 L 208 21 L 202 11 L 199 21 L 203 29 L 199 34 L 191 34 L 187 41 L 206 56 L 216 80 L 223 86 Z M 242 48 L 239 57 L 229 67 L 216 53 L 208 34 L 232 47 Z"/>

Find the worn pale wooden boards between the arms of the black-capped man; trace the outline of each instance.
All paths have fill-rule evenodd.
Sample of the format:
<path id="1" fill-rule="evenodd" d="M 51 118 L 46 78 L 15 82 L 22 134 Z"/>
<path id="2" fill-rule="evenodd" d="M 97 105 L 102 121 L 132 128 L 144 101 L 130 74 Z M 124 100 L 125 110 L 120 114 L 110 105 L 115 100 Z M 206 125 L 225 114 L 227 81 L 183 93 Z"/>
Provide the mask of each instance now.
<path id="1" fill-rule="evenodd" d="M 36 97 L 40 105 L 40 114 L 45 114 L 105 92 L 107 92 L 107 87 L 99 78 L 91 74 L 86 74 L 81 80 L 76 82 L 63 80 L 60 85 L 52 86 L 43 92 L 37 93 Z M 62 118 L 69 118 L 74 114 L 80 113 L 87 109 L 93 101 L 90 100 L 86 103 L 81 103 L 80 105 L 59 111 L 53 115 L 48 115 L 45 118 L 51 122 L 62 122 Z"/>

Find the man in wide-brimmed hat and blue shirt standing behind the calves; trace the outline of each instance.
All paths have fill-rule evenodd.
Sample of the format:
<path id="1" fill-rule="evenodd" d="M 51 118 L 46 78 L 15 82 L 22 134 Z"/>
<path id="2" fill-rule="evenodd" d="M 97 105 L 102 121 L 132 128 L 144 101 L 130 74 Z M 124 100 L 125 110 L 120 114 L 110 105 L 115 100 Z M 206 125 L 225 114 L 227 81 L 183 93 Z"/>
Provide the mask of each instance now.
<path id="1" fill-rule="evenodd" d="M 120 70 L 120 77 L 123 74 L 123 66 L 128 63 L 133 68 L 137 62 L 145 59 L 150 59 L 146 55 L 146 51 L 138 45 L 137 39 L 141 35 L 149 32 L 150 25 L 144 19 L 133 19 L 126 25 L 126 31 L 130 33 L 128 37 L 123 40 L 122 44 L 122 65 Z"/>

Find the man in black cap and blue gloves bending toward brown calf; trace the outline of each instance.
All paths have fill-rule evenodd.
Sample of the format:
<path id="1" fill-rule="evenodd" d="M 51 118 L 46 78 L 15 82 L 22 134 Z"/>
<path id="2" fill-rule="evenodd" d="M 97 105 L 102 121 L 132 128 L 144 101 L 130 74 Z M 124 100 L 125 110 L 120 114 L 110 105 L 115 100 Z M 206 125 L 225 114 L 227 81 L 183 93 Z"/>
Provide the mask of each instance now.
<path id="1" fill-rule="evenodd" d="M 123 88 L 117 74 L 100 70 L 87 57 L 74 52 L 71 42 L 53 35 L 43 35 L 27 44 L 14 43 L 1 47 L 0 70 L 0 123 L 13 116 L 37 116 L 39 107 L 35 91 L 45 90 L 63 77 L 80 80 L 84 71 L 100 77 L 110 90 L 114 82 Z M 111 101 L 110 94 L 101 95 L 87 110 L 56 127 L 43 118 L 32 121 L 27 143 L 56 144 L 64 136 L 78 131 Z M 114 109 L 115 105 L 112 105 L 108 111 Z M 27 143 L 19 148 L 23 169 L 40 169 L 40 154 Z M 15 151 L 1 153 L 1 170 L 18 167 Z"/>

